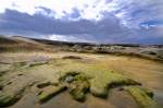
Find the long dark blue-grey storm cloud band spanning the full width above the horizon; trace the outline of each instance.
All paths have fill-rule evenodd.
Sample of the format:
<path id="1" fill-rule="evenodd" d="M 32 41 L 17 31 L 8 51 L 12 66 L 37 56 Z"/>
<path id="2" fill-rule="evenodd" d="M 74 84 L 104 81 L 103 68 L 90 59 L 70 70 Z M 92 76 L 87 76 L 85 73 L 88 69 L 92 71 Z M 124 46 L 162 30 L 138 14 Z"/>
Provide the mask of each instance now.
<path id="1" fill-rule="evenodd" d="M 52 11 L 40 8 L 47 13 Z M 65 40 L 93 41 L 93 43 L 148 43 L 162 44 L 163 37 L 155 29 L 129 29 L 123 26 L 120 20 L 109 12 L 102 12 L 104 17 L 100 21 L 64 20 L 48 17 L 41 13 L 29 15 L 15 10 L 7 9 L 0 14 L 1 34 L 21 34 L 36 38 L 47 38 L 49 35 L 61 35 Z M 70 16 L 78 17 L 79 11 L 74 9 Z M 162 29 L 161 29 L 162 31 Z M 158 36 L 158 37 L 156 37 Z M 61 39 L 62 39 L 61 38 Z"/>

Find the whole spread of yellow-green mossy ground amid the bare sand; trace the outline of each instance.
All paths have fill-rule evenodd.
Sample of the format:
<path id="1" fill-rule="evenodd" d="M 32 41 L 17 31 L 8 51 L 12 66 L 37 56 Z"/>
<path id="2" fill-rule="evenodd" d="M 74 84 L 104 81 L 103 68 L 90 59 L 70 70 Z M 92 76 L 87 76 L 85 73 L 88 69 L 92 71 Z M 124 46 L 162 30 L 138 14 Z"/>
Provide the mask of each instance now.
<path id="1" fill-rule="evenodd" d="M 105 98 L 111 88 L 126 86 L 128 93 L 130 93 L 141 108 L 156 108 L 156 104 L 152 99 L 153 93 L 149 89 L 138 87 L 138 85 L 141 85 L 140 83 L 118 72 L 111 71 L 105 64 L 106 62 L 101 62 L 97 59 L 97 62 L 84 63 L 78 62 L 78 59 L 82 58 L 68 56 L 57 58 L 51 62 L 18 62 L 13 64 L 13 70 L 15 69 L 15 72 L 20 72 L 20 69 L 25 68 L 23 72 L 37 72 L 34 75 L 42 77 L 41 83 L 36 84 L 40 91 L 37 96 L 41 104 L 64 89 L 67 89 L 74 99 L 84 101 L 88 92 L 95 96 Z M 20 77 L 23 74 L 20 73 L 17 75 Z M 9 84 L 8 86 L 12 85 L 11 82 L 7 84 Z M 0 91 L 3 91 L 3 86 L 1 85 Z M 20 97 L 17 98 L 15 95 L 11 96 L 0 93 L 0 107 L 12 105 Z"/>

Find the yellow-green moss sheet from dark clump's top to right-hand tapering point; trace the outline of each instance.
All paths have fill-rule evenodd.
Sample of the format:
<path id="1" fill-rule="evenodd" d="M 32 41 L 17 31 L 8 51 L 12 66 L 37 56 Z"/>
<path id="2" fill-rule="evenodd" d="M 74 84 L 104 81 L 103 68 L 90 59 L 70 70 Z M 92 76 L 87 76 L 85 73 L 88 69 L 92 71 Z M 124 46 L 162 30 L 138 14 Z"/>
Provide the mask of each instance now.
<path id="1" fill-rule="evenodd" d="M 60 81 L 73 82 L 75 79 L 78 79 L 79 81 L 87 80 L 89 82 L 90 93 L 98 97 L 105 98 L 108 96 L 108 91 L 116 86 L 140 85 L 140 83 L 127 76 L 124 76 L 118 72 L 111 71 L 99 63 L 84 64 L 83 62 L 72 60 L 60 62 L 64 62 L 64 65 L 61 67 L 61 69 L 58 68 L 59 70 L 61 70 L 61 74 L 64 73 L 61 75 Z M 80 74 L 84 74 L 85 77 Z M 70 77 L 71 80 L 68 80 L 67 77 Z"/>

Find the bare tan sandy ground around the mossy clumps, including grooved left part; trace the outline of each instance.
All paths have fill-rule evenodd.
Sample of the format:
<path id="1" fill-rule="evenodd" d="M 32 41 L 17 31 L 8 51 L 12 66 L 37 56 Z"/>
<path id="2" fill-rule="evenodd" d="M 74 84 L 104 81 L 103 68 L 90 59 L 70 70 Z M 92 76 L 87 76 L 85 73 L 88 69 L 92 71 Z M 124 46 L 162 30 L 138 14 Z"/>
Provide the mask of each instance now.
<path id="1" fill-rule="evenodd" d="M 76 56 L 80 59 L 63 59 L 63 57 L 70 56 Z M 83 64 L 113 70 L 131 77 L 140 82 L 145 87 L 153 91 L 156 103 L 163 105 L 162 63 L 130 57 L 76 52 L 5 52 L 1 53 L 0 58 L 0 70 L 4 80 L 3 91 L 16 93 L 18 89 L 25 88 L 23 97 L 10 108 L 138 108 L 131 96 L 125 91 L 117 91 L 116 88 L 109 93 L 105 100 L 88 94 L 85 103 L 78 103 L 72 99 L 67 92 L 63 92 L 45 104 L 38 103 L 36 94 L 39 88 L 36 87 L 37 84 L 41 82 L 58 82 L 58 74 L 62 71 L 63 73 L 71 70 L 84 72 Z M 11 68 L 16 62 L 26 62 L 26 64 L 17 69 Z M 42 62 L 42 64 L 28 68 L 28 64 L 36 62 Z M 66 67 L 66 63 L 68 67 Z M 102 74 L 102 71 L 100 74 Z"/>

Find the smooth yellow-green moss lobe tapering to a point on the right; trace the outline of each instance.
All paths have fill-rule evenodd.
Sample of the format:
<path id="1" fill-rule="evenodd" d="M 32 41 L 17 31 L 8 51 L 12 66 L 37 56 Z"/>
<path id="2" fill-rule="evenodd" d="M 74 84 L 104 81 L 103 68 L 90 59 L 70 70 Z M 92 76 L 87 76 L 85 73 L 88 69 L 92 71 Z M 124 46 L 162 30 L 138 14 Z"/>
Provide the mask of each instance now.
<path id="1" fill-rule="evenodd" d="M 124 86 L 124 85 L 139 85 L 138 82 L 125 77 L 122 74 L 108 71 L 104 73 L 104 76 L 96 77 L 90 81 L 90 92 L 98 97 L 105 98 L 108 96 L 108 89 L 116 87 L 116 86 Z"/>

